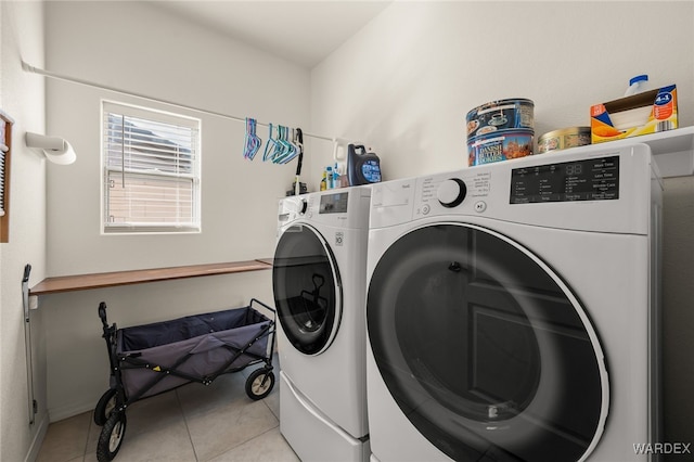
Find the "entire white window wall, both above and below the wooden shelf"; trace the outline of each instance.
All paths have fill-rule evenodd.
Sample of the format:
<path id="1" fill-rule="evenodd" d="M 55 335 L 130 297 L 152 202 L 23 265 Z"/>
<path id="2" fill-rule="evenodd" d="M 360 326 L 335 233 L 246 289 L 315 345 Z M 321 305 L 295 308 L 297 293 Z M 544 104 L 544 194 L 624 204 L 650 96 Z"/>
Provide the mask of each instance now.
<path id="1" fill-rule="evenodd" d="M 260 121 L 305 127 L 309 72 L 159 9 L 157 2 L 48 2 L 47 64 L 52 72 L 151 98 Z M 177 112 L 65 81 L 47 82 L 47 126 L 77 152 L 48 169 L 48 274 L 157 268 L 271 257 L 278 198 L 292 182 L 286 166 L 243 158 L 245 124 L 202 118 L 200 234 L 100 234 L 100 101 Z M 258 134 L 267 140 L 267 128 Z M 265 144 L 264 144 L 265 145 Z M 51 421 L 90 410 L 108 386 L 97 316 L 108 305 L 119 326 L 272 301 L 270 271 L 207 277 L 41 297 L 47 316 Z"/>

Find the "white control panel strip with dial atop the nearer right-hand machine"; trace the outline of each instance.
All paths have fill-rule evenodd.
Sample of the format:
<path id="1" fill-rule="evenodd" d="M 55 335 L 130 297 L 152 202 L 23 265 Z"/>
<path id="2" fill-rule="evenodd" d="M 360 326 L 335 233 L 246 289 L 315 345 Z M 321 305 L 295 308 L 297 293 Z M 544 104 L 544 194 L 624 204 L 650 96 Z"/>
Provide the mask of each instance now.
<path id="1" fill-rule="evenodd" d="M 650 203 L 654 181 L 647 145 L 596 144 L 374 184 L 370 228 L 414 220 L 492 219 L 646 233 L 647 214 L 634 209 Z"/>

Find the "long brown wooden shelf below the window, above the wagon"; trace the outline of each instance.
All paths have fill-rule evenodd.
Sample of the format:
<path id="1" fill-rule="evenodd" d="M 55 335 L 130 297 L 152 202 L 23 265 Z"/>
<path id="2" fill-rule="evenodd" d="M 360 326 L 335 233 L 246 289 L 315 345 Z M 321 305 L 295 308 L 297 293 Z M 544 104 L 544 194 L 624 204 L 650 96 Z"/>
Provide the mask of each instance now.
<path id="1" fill-rule="evenodd" d="M 170 281 L 175 279 L 203 275 L 231 274 L 272 268 L 271 258 L 224 264 L 191 265 L 171 268 L 154 268 L 132 271 L 115 271 L 92 274 L 47 278 L 29 291 L 29 295 L 48 295 L 89 288 L 115 287 L 118 285 L 142 284 L 146 282 Z"/>

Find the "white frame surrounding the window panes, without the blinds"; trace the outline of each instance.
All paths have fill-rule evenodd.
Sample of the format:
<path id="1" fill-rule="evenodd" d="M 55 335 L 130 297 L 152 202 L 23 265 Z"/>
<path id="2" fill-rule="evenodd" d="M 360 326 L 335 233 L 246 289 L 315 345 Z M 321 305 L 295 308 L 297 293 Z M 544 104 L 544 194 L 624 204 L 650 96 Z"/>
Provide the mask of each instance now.
<path id="1" fill-rule="evenodd" d="M 153 107 L 128 104 L 114 100 L 101 100 L 101 129 L 100 129 L 100 158 L 101 158 L 101 216 L 100 229 L 102 235 L 131 235 L 131 234 L 184 234 L 202 232 L 202 214 L 201 214 L 201 196 L 202 196 L 202 158 L 201 158 L 201 140 L 202 140 L 202 120 L 183 114 L 171 113 Z M 117 172 L 120 175 L 123 169 L 108 165 L 107 159 L 107 114 L 119 114 L 125 117 L 137 117 L 144 120 L 152 120 L 160 124 L 171 124 L 181 127 L 188 127 L 193 130 L 191 134 L 191 151 L 193 157 L 191 159 L 191 221 L 185 223 L 118 223 L 110 224 L 107 214 L 110 210 L 110 175 Z M 152 179 L 170 179 L 187 178 L 187 176 L 171 176 L 170 174 L 156 174 L 152 170 L 138 172 L 137 170 L 126 170 L 129 176 L 144 176 Z M 125 176 L 124 176 L 125 177 Z"/>

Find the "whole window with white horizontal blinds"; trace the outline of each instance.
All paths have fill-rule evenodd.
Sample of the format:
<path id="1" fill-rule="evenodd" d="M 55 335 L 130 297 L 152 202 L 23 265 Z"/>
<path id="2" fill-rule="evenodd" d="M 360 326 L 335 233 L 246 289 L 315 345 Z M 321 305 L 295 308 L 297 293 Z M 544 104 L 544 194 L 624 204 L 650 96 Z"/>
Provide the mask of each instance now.
<path id="1" fill-rule="evenodd" d="M 198 232 L 200 119 L 103 102 L 103 231 Z"/>

